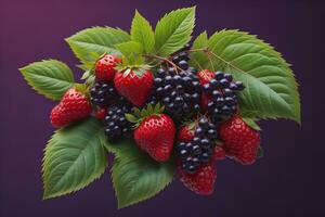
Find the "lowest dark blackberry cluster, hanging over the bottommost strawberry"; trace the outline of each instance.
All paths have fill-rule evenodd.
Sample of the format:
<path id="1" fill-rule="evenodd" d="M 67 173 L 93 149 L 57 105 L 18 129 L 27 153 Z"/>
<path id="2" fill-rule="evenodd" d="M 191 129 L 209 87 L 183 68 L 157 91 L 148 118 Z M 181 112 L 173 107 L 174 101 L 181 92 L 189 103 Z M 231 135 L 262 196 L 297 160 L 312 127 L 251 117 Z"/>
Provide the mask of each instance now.
<path id="1" fill-rule="evenodd" d="M 212 157 L 217 139 L 216 125 L 206 117 L 202 117 L 198 120 L 193 140 L 177 143 L 177 153 L 180 157 L 182 169 L 194 174 L 202 164 L 208 163 Z"/>

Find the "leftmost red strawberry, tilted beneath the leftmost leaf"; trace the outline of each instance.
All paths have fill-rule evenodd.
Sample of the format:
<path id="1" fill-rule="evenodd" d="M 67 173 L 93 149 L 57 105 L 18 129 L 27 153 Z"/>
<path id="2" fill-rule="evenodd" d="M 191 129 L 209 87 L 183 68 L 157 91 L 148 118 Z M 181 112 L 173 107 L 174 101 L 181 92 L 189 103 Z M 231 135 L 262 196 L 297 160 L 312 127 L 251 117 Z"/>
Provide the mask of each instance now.
<path id="1" fill-rule="evenodd" d="M 91 104 L 83 93 L 75 88 L 69 89 L 61 102 L 51 112 L 54 127 L 64 127 L 72 122 L 82 119 L 91 113 Z"/>

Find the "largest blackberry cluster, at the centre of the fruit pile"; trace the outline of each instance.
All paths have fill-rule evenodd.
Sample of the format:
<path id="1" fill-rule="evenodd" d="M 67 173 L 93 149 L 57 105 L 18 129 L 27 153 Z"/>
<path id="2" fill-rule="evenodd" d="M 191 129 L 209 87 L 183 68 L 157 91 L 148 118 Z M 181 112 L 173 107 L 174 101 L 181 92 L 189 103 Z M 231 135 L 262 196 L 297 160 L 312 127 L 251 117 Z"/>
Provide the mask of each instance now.
<path id="1" fill-rule="evenodd" d="M 148 103 L 160 102 L 176 120 L 199 112 L 202 89 L 193 68 L 177 74 L 173 67 L 161 67 L 157 76 Z"/>

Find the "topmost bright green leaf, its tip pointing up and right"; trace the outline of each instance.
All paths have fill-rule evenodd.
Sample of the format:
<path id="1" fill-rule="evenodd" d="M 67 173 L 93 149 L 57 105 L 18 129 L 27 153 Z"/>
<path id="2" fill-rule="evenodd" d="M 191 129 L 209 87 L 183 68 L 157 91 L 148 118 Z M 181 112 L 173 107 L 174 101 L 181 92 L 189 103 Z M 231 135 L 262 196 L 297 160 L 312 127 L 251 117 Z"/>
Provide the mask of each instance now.
<path id="1" fill-rule="evenodd" d="M 190 40 L 195 22 L 195 7 L 179 9 L 166 14 L 155 29 L 156 53 L 168 56 Z"/>

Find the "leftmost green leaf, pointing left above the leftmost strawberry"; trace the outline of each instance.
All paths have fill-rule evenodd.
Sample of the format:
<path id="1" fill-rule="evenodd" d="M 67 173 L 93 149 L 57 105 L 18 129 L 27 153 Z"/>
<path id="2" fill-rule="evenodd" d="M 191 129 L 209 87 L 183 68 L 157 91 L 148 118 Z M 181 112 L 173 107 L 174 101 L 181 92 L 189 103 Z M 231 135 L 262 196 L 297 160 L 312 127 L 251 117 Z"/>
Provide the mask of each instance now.
<path id="1" fill-rule="evenodd" d="M 51 100 L 61 100 L 62 95 L 75 85 L 73 72 L 60 61 L 36 62 L 20 71 L 32 89 Z"/>

